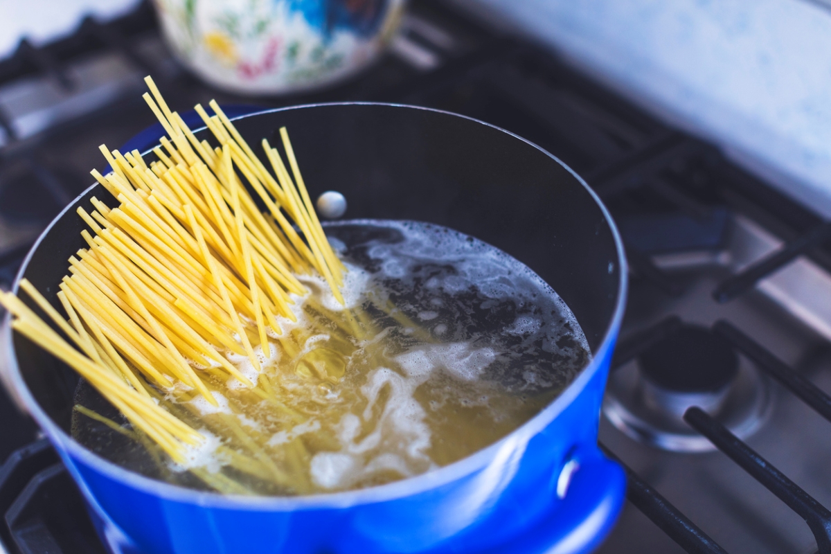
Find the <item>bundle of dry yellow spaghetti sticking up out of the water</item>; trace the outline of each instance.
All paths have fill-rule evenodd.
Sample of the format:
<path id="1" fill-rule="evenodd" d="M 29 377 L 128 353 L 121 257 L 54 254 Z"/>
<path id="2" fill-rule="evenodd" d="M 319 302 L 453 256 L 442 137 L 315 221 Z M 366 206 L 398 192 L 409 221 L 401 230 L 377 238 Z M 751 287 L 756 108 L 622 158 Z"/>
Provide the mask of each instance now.
<path id="1" fill-rule="evenodd" d="M 70 257 L 57 294 L 67 318 L 21 282 L 64 336 L 11 293 L 0 303 L 15 330 L 75 369 L 181 463 L 204 436 L 160 407 L 160 391 L 194 391 L 216 405 L 212 376 L 253 387 L 224 351 L 247 356 L 259 370 L 257 349 L 270 351 L 269 336 L 279 341 L 278 317 L 297 319 L 292 296 L 307 292 L 297 275 L 319 272 L 342 302 L 345 267 L 322 231 L 285 129 L 291 173 L 263 140 L 269 171 L 214 101 L 214 115 L 196 110 L 218 146 L 198 140 L 152 79 L 145 81 L 152 93 L 145 101 L 167 135 L 150 165 L 137 150 L 101 145 L 112 171 L 92 175 L 119 204 L 92 198 L 91 213 L 77 208 L 91 232 L 82 232 L 88 248 Z"/>

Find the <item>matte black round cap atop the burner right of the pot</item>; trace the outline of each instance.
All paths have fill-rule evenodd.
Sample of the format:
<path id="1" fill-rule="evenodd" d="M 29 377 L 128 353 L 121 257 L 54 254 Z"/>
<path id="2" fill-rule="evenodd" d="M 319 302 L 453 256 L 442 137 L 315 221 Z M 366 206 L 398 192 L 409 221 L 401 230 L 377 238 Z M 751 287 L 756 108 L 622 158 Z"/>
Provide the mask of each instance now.
<path id="1" fill-rule="evenodd" d="M 640 355 L 652 384 L 674 392 L 715 392 L 735 379 L 739 357 L 730 343 L 702 326 L 686 325 Z"/>

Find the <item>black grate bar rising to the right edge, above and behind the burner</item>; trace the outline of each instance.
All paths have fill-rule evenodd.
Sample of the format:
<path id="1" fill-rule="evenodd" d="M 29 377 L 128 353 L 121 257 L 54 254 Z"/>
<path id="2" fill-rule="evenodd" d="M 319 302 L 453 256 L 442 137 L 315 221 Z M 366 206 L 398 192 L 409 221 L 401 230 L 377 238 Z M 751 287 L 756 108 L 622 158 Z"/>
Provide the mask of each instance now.
<path id="1" fill-rule="evenodd" d="M 716 302 L 724 303 L 738 297 L 742 292 L 750 290 L 757 282 L 760 282 L 771 273 L 774 273 L 793 261 L 795 257 L 819 247 L 826 240 L 831 238 L 831 222 L 821 223 L 794 240 L 786 243 L 776 252 L 763 258 L 760 262 L 751 264 L 734 276 L 725 279 L 713 291 Z"/>

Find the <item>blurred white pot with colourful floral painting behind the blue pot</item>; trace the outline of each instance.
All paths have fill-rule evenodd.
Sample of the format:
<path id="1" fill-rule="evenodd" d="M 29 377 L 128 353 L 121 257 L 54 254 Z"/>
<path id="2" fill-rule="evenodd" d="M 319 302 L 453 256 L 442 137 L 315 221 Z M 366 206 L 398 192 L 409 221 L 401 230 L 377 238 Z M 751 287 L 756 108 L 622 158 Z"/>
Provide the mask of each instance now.
<path id="1" fill-rule="evenodd" d="M 406 0 L 155 0 L 179 59 L 241 94 L 323 86 L 370 63 Z"/>

